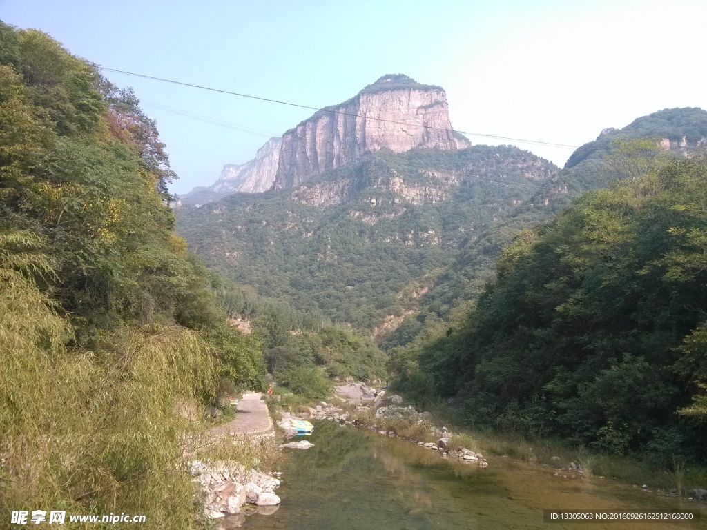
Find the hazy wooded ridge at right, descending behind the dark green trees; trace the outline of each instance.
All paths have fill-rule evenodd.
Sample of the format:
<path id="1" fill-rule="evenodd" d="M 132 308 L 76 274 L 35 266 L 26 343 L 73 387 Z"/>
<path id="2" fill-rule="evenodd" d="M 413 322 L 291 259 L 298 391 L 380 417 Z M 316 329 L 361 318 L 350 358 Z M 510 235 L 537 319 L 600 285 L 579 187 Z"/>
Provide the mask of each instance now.
<path id="1" fill-rule="evenodd" d="M 660 158 L 685 158 L 703 151 L 707 138 L 707 112 L 699 108 L 677 108 L 654 112 L 634 120 L 624 129 L 607 129 L 595 141 L 578 148 L 563 170 L 554 176 L 553 189 L 568 193 L 548 193 L 540 189 L 529 204 L 548 201 L 551 211 L 560 211 L 581 192 L 609 185 L 613 179 L 640 175 Z M 525 206 L 527 208 L 527 206 Z M 531 216 L 531 221 L 537 221 Z M 461 310 L 475 300 L 486 282 L 495 278 L 498 252 L 513 241 L 515 232 L 530 227 L 522 208 L 503 223 L 492 225 L 479 240 L 468 242 L 436 279 L 421 300 L 420 310 L 411 314 L 386 345 L 397 346 L 414 338 L 424 322 L 448 319 L 455 307 Z"/>

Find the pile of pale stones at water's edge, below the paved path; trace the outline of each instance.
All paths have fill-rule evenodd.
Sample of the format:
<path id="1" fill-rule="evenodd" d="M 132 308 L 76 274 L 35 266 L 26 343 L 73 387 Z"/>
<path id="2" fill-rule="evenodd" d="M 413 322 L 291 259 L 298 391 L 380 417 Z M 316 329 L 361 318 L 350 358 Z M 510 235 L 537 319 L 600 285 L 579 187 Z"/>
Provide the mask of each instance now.
<path id="1" fill-rule="evenodd" d="M 240 464 L 200 460 L 189 462 L 189 471 L 204 492 L 204 515 L 209 519 L 239 514 L 244 505 L 276 507 L 280 504 L 274 490 L 280 485 L 276 477 L 281 473 L 259 473 L 247 471 Z"/>

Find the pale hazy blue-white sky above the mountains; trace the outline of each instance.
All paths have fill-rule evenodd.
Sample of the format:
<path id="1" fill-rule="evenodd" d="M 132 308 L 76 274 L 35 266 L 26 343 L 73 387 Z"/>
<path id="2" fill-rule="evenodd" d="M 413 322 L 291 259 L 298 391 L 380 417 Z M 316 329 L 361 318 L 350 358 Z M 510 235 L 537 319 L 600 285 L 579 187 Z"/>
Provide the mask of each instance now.
<path id="1" fill-rule="evenodd" d="M 578 146 L 656 110 L 707 108 L 704 0 L 0 0 L 0 19 L 110 68 L 312 107 L 406 73 L 447 90 L 455 129 L 520 139 Z M 134 87 L 157 120 L 176 193 L 213 183 L 224 164 L 250 160 L 269 134 L 312 113 L 107 77 Z M 571 154 L 515 144 L 558 165 Z"/>

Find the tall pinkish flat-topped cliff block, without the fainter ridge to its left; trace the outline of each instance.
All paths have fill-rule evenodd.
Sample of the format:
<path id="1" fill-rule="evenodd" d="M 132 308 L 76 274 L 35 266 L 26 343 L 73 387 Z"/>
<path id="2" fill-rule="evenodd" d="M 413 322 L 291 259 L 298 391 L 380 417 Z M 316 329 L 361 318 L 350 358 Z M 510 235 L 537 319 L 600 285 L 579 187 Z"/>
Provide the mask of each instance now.
<path id="1" fill-rule="evenodd" d="M 283 135 L 274 188 L 294 187 L 382 148 L 402 153 L 467 146 L 453 134 L 442 88 L 419 85 L 407 76 L 384 76 L 355 98 L 317 112 Z"/>

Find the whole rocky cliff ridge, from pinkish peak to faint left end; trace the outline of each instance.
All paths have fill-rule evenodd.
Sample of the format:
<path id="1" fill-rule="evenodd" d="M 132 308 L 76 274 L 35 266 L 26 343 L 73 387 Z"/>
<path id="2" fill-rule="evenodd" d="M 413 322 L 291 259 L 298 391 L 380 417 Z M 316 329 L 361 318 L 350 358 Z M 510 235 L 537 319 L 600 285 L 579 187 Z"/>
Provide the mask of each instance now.
<path id="1" fill-rule="evenodd" d="M 238 192 L 293 187 L 380 149 L 403 153 L 467 146 L 469 141 L 452 130 L 443 88 L 403 74 L 382 76 L 354 98 L 315 112 L 281 139 L 269 139 L 253 160 L 225 165 L 216 183 L 180 196 L 178 204 L 197 206 Z"/>

